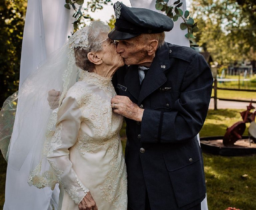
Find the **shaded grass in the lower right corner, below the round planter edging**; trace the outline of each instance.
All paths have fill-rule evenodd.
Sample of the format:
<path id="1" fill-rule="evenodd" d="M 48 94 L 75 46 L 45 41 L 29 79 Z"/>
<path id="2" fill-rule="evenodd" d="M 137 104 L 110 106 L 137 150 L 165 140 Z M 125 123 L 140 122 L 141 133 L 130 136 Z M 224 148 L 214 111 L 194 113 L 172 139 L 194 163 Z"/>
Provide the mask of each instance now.
<path id="1" fill-rule="evenodd" d="M 224 210 L 229 206 L 255 210 L 256 156 L 222 157 L 204 153 L 203 157 L 209 210 Z"/>

